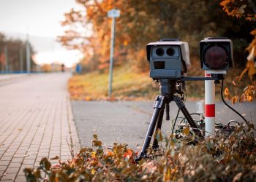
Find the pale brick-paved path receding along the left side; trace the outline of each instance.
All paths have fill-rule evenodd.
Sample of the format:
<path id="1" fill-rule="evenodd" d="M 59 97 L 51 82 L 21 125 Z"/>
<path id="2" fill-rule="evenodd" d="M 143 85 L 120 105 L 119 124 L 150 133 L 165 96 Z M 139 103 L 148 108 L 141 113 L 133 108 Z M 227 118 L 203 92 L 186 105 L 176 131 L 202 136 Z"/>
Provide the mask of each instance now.
<path id="1" fill-rule="evenodd" d="M 42 157 L 66 161 L 78 152 L 67 92 L 70 76 L 0 76 L 0 181 L 26 181 L 23 169 L 37 167 Z"/>

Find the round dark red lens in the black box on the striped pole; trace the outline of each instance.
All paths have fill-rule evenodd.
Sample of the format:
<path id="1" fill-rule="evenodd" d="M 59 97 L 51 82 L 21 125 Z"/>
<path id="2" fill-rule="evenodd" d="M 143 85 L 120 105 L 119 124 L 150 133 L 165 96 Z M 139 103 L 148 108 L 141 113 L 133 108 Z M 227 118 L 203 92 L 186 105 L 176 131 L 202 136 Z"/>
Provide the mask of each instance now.
<path id="1" fill-rule="evenodd" d="M 211 69 L 220 69 L 227 63 L 227 52 L 223 47 L 209 47 L 205 52 L 205 63 Z"/>

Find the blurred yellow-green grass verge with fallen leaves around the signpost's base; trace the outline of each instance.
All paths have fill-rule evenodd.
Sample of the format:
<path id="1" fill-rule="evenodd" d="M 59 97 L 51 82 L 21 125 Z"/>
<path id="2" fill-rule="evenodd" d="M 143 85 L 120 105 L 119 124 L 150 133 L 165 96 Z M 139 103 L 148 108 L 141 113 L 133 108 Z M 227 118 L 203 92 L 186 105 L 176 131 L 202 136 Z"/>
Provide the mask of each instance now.
<path id="1" fill-rule="evenodd" d="M 72 76 L 68 84 L 71 99 L 107 100 L 108 79 L 108 73 L 99 71 Z M 157 84 L 148 74 L 132 72 L 127 66 L 118 67 L 113 72 L 112 99 L 147 100 L 158 92 Z"/>

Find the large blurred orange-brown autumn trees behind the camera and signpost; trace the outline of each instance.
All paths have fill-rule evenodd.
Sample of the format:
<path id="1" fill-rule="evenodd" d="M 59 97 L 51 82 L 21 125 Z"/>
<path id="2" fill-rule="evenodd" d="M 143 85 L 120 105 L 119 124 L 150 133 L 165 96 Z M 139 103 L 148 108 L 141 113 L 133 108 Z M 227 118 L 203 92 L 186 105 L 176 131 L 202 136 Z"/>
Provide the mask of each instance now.
<path id="1" fill-rule="evenodd" d="M 249 0 L 248 0 L 249 1 Z M 59 41 L 69 49 L 84 53 L 87 70 L 104 69 L 109 63 L 110 18 L 107 12 L 116 8 L 121 17 L 116 20 L 115 63 L 132 65 L 137 71 L 148 71 L 145 47 L 161 38 L 180 38 L 189 42 L 190 56 L 198 61 L 198 42 L 207 36 L 227 36 L 233 40 L 237 67 L 245 65 L 245 48 L 252 41 L 249 33 L 255 22 L 227 16 L 211 0 L 77 0 L 81 10 L 71 9 L 61 23 L 67 28 Z M 247 7 L 255 9 L 250 1 Z M 193 60 L 195 58 L 195 60 Z"/>

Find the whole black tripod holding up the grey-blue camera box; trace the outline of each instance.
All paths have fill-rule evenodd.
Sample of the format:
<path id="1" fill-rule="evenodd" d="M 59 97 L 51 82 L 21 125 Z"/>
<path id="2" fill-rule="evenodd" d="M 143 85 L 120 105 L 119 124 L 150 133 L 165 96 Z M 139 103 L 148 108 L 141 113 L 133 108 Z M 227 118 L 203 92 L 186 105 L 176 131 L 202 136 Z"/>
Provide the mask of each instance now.
<path id="1" fill-rule="evenodd" d="M 151 118 L 148 131 L 146 133 L 146 138 L 143 142 L 143 147 L 136 161 L 139 161 L 142 157 L 146 157 L 146 150 L 148 149 L 154 130 L 155 131 L 161 130 L 164 111 L 166 111 L 167 120 L 169 119 L 169 111 L 170 111 L 169 104 L 172 101 L 176 102 L 176 105 L 184 114 L 185 118 L 189 122 L 189 125 L 190 127 L 192 127 L 192 130 L 195 132 L 195 134 L 198 137 L 203 138 L 202 133 L 200 132 L 194 120 L 190 116 L 189 111 L 187 111 L 187 108 L 184 105 L 184 102 L 181 100 L 181 98 L 178 95 L 174 95 L 175 93 L 179 93 L 179 94 L 183 93 L 182 90 L 176 89 L 176 84 L 177 84 L 177 81 L 172 79 L 159 80 L 160 95 L 158 95 L 154 100 L 154 105 L 153 105 L 154 113 Z M 152 147 L 153 149 L 159 148 L 157 138 L 154 138 Z"/>

